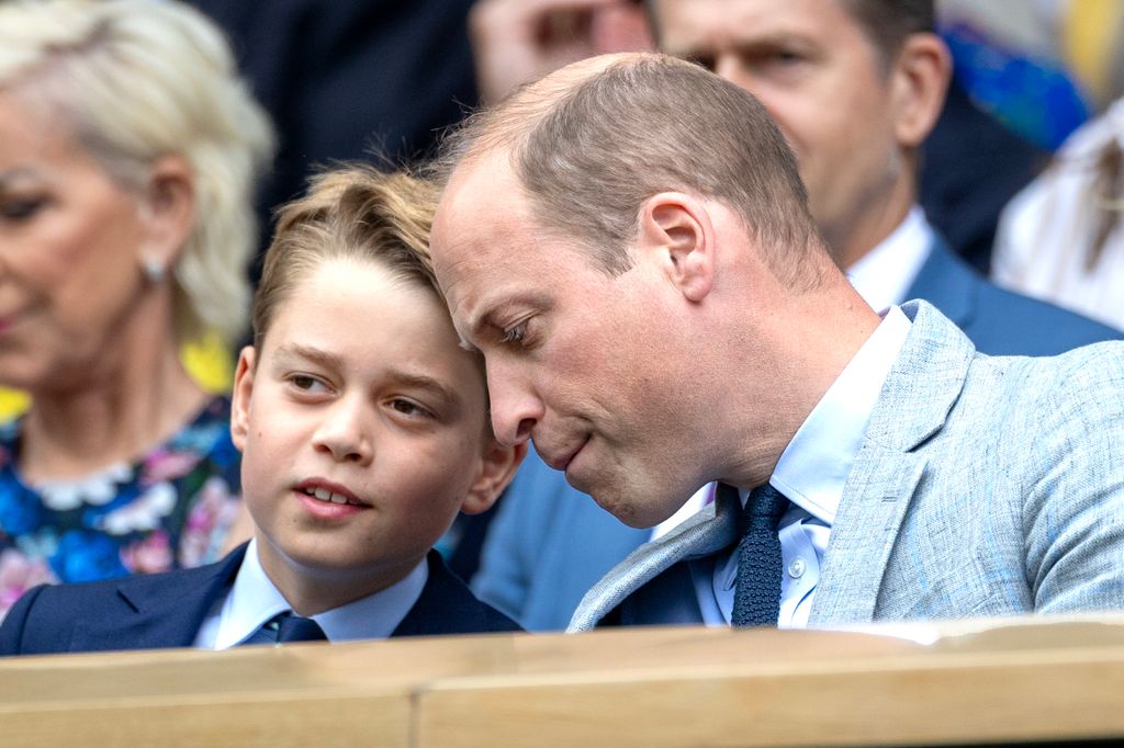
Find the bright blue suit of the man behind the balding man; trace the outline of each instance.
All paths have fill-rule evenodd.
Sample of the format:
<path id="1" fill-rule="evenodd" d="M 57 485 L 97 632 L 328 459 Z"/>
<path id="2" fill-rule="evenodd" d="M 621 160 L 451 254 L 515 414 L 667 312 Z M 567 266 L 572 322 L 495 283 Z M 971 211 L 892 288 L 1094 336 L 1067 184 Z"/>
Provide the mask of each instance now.
<path id="1" fill-rule="evenodd" d="M 932 303 L 980 353 L 992 356 L 1051 356 L 1124 338 L 1085 317 L 989 283 L 940 239 L 907 298 Z M 623 524 L 572 489 L 534 451 L 498 511 L 472 589 L 531 631 L 564 629 L 586 591 L 651 535 Z"/>

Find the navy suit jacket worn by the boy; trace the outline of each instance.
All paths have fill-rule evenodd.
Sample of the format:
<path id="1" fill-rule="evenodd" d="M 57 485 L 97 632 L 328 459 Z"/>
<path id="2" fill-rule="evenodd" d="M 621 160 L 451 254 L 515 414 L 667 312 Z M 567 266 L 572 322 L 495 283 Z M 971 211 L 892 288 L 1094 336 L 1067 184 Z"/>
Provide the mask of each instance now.
<path id="1" fill-rule="evenodd" d="M 246 553 L 166 574 L 29 590 L 0 626 L 0 655 L 190 647 L 215 601 L 227 593 Z M 427 557 L 429 578 L 392 637 L 518 631 L 502 613 L 472 596 L 445 567 Z"/>

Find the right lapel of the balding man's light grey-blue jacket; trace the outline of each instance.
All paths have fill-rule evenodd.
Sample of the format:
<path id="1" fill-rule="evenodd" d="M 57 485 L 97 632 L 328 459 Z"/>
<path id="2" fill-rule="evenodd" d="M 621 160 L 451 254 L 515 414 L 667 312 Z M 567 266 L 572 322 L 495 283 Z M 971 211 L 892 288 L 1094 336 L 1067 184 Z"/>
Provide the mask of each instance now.
<path id="1" fill-rule="evenodd" d="M 918 448 L 943 428 L 976 353 L 925 302 L 903 311 L 914 327 L 882 386 L 840 502 L 809 624 L 873 619 L 886 567 L 922 477 Z"/>

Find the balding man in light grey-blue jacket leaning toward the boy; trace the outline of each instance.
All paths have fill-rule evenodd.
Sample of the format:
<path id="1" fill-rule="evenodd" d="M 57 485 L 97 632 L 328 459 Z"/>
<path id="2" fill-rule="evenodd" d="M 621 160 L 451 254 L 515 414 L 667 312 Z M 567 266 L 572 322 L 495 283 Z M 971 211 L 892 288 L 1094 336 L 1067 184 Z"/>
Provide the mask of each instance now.
<path id="1" fill-rule="evenodd" d="M 448 158 L 435 272 L 497 437 L 633 527 L 723 486 L 573 630 L 1124 604 L 1124 349 L 990 358 L 925 302 L 877 314 L 750 94 L 598 57 Z"/>

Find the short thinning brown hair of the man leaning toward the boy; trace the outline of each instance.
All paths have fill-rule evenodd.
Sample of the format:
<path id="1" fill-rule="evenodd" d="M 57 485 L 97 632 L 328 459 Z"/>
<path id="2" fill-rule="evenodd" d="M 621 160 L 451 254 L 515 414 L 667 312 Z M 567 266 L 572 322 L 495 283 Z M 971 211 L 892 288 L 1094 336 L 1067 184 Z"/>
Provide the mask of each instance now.
<path id="1" fill-rule="evenodd" d="M 681 191 L 733 210 L 779 279 L 808 277 L 799 259 L 819 240 L 807 193 L 756 99 L 664 55 L 622 55 L 577 82 L 564 73 L 473 115 L 445 139 L 444 171 L 506 153 L 537 225 L 613 274 L 632 266 L 644 201 Z"/>

